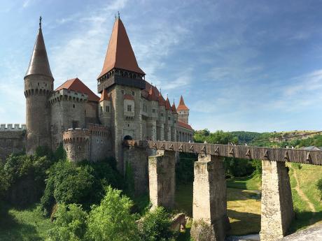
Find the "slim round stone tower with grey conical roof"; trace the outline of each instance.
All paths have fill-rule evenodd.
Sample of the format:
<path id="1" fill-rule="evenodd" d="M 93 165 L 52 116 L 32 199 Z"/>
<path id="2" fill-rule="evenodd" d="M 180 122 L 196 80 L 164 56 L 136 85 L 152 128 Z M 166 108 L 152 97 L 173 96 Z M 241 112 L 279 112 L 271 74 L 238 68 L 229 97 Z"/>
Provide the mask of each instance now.
<path id="1" fill-rule="evenodd" d="M 38 146 L 51 146 L 48 97 L 53 90 L 54 78 L 50 71 L 43 41 L 41 18 L 34 51 L 31 54 L 24 80 L 27 124 L 26 151 L 27 154 L 32 154 Z"/>

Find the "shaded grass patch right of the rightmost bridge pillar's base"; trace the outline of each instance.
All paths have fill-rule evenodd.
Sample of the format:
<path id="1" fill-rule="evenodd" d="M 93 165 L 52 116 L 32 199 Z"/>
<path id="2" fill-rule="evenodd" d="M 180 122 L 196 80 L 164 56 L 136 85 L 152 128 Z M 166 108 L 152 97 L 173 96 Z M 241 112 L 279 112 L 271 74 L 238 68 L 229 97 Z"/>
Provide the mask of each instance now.
<path id="1" fill-rule="evenodd" d="M 290 224 L 288 234 L 316 224 L 318 221 L 322 221 L 322 212 L 295 212 L 295 219 Z"/>

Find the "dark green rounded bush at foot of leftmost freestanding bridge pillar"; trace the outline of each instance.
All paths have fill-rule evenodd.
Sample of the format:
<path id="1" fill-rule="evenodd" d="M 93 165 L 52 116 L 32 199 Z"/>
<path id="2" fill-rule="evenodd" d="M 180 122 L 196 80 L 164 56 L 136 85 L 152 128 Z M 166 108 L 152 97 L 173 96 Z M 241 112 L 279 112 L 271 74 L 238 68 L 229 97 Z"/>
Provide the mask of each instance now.
<path id="1" fill-rule="evenodd" d="M 170 226 L 170 214 L 164 207 L 156 207 L 141 220 L 139 236 L 142 241 L 172 240 L 174 233 L 170 231 Z"/>

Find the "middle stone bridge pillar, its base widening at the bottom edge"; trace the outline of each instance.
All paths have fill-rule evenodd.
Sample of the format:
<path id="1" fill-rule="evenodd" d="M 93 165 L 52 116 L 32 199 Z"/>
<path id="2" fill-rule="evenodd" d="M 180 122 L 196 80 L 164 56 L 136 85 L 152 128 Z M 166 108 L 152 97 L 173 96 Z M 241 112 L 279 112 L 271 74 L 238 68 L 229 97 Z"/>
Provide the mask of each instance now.
<path id="1" fill-rule="evenodd" d="M 199 154 L 194 169 L 191 237 L 195 241 L 223 241 L 230 229 L 223 158 Z"/>

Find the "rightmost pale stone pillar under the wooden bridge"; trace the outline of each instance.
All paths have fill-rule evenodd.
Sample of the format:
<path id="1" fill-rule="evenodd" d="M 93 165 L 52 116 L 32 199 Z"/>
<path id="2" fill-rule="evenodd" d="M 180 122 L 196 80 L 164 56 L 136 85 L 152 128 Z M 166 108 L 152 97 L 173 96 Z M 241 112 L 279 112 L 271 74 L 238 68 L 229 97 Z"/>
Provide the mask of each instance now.
<path id="1" fill-rule="evenodd" d="M 262 161 L 260 240 L 283 238 L 294 217 L 288 169 L 281 161 Z"/>

